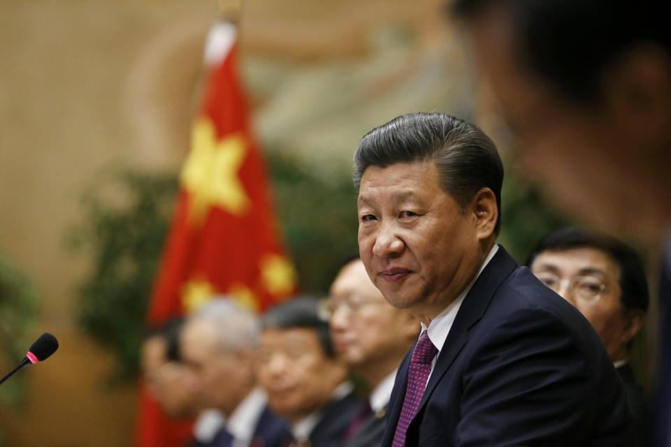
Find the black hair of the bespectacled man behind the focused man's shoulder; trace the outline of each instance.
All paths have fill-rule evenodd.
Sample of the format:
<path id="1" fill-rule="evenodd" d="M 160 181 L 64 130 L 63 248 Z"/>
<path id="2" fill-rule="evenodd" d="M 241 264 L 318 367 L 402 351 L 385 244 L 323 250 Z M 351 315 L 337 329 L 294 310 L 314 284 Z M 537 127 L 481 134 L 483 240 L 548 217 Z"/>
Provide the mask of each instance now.
<path id="1" fill-rule="evenodd" d="M 620 301 L 625 309 L 648 310 L 648 281 L 643 261 L 634 249 L 604 233 L 584 228 L 564 228 L 543 237 L 531 251 L 526 265 L 531 268 L 533 261 L 544 251 L 567 251 L 591 248 L 603 251 L 620 269 Z"/>

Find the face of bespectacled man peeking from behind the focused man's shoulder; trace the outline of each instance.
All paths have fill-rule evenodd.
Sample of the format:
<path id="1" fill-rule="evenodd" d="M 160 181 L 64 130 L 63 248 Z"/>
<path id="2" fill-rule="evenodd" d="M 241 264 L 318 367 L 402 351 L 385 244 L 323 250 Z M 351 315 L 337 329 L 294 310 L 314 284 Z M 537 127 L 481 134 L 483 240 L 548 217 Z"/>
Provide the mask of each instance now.
<path id="1" fill-rule="evenodd" d="M 542 282 L 552 286 L 551 288 L 589 320 L 612 360 L 626 358 L 626 345 L 631 335 L 627 335 L 626 332 L 628 324 L 620 301 L 622 295 L 619 284 L 620 271 L 607 254 L 593 248 L 544 251 L 534 259 L 531 272 Z M 588 281 L 595 280 L 586 284 L 603 284 L 600 298 L 596 301 L 585 300 L 580 298 L 580 293 L 575 287 L 569 290 L 570 282 L 573 281 L 575 284 L 577 277 L 586 277 Z"/>

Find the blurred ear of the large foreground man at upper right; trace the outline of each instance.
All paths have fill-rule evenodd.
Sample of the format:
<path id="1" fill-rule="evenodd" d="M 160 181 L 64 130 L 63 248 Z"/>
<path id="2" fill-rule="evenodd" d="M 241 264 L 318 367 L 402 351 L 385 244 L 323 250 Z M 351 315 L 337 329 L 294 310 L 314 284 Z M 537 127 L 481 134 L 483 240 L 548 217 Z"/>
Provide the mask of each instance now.
<path id="1" fill-rule="evenodd" d="M 637 150 L 666 149 L 671 138 L 671 57 L 653 44 L 633 47 L 606 71 L 605 107 L 640 142 Z M 654 155 L 654 154 L 650 154 Z"/>

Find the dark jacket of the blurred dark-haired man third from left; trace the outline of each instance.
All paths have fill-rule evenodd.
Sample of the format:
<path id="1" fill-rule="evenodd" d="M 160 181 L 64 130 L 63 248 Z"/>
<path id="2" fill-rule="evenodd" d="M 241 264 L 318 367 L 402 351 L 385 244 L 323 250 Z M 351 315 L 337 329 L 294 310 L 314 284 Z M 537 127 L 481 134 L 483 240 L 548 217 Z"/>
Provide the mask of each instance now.
<path id="1" fill-rule="evenodd" d="M 311 447 L 342 447 L 349 424 L 361 410 L 361 400 L 349 393 L 340 400 L 326 404 L 322 418 L 310 432 Z"/>

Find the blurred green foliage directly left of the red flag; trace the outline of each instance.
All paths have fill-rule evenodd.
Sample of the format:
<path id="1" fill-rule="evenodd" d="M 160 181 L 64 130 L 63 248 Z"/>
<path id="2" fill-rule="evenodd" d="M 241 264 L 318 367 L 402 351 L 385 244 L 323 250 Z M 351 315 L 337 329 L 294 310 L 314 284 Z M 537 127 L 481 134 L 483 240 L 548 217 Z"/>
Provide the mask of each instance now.
<path id="1" fill-rule="evenodd" d="M 177 191 L 174 175 L 123 172 L 84 196 L 85 220 L 69 235 L 86 251 L 78 322 L 120 360 L 113 379 L 138 373 L 147 302 Z"/>

